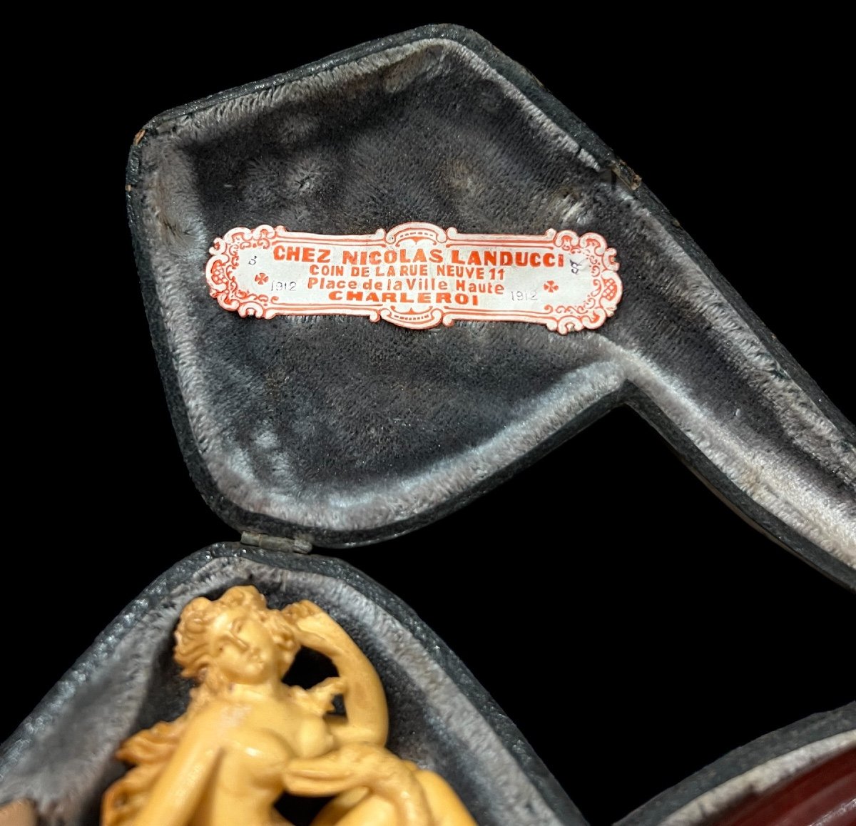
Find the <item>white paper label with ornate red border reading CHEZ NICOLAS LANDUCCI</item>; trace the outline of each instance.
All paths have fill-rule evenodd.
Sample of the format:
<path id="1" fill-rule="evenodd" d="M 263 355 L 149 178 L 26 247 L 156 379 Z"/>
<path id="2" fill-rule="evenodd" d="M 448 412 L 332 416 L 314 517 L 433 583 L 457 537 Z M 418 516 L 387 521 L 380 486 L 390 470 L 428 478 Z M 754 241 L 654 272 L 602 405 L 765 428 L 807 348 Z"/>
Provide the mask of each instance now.
<path id="1" fill-rule="evenodd" d="M 595 330 L 621 279 L 602 235 L 462 235 L 403 223 L 373 235 L 238 227 L 214 241 L 205 276 L 241 316 L 359 315 L 411 330 L 455 321 L 523 321 Z"/>

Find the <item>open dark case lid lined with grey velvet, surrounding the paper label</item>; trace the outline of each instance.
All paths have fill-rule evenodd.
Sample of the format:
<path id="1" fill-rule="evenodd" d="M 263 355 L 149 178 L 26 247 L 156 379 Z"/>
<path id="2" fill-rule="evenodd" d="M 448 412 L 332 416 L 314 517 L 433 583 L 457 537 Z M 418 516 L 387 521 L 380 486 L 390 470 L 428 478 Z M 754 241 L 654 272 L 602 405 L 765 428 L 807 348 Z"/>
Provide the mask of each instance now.
<path id="1" fill-rule="evenodd" d="M 182 449 L 241 531 L 389 538 L 626 401 L 744 514 L 853 586 L 851 425 L 632 171 L 479 36 L 425 27 L 169 111 L 135 141 L 128 203 Z M 413 221 L 597 232 L 624 299 L 568 335 L 406 330 L 241 318 L 205 282 L 212 242 L 235 227 Z"/>

